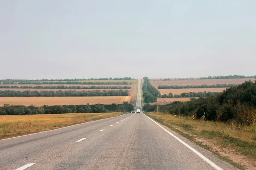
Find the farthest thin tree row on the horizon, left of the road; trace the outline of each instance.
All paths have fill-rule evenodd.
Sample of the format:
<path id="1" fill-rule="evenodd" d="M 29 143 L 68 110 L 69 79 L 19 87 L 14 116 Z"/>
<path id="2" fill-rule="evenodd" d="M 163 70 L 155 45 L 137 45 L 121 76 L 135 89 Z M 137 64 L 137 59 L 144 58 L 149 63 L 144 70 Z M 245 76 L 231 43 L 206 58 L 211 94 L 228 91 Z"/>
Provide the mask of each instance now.
<path id="1" fill-rule="evenodd" d="M 0 82 L 50 82 L 50 81 L 90 81 L 90 80 L 130 80 L 131 77 L 90 78 L 90 79 L 1 79 Z"/>

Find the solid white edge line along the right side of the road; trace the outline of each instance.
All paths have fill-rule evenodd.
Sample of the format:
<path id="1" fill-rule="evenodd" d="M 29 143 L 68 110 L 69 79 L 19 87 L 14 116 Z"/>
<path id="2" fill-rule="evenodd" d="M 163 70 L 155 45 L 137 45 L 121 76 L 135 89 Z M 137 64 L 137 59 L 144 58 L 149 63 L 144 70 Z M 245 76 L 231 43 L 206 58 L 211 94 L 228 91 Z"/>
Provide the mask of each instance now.
<path id="1" fill-rule="evenodd" d="M 144 113 L 143 113 L 144 114 Z M 144 114 L 145 115 L 145 114 Z M 146 116 L 146 115 L 145 115 Z M 180 143 L 184 144 L 186 147 L 188 147 L 190 150 L 192 150 L 195 154 L 197 154 L 199 157 L 201 157 L 201 159 L 203 159 L 204 161 L 206 161 L 208 164 L 210 164 L 212 167 L 214 167 L 216 170 L 223 170 L 221 167 L 219 167 L 218 165 L 216 165 L 215 163 L 213 163 L 212 161 L 210 161 L 208 158 L 206 158 L 204 155 L 202 155 L 201 153 L 199 153 L 197 150 L 195 150 L 193 147 L 191 147 L 189 144 L 186 144 L 185 142 L 183 142 L 183 140 L 181 140 L 180 138 L 178 138 L 177 136 L 175 136 L 174 134 L 172 134 L 171 132 L 169 132 L 168 130 L 166 130 L 165 128 L 163 128 L 162 126 L 160 126 L 156 121 L 154 121 L 153 119 L 151 119 L 150 117 L 146 116 L 148 119 L 150 119 L 151 121 L 153 121 L 155 124 L 157 124 L 159 127 L 161 127 L 163 130 L 165 130 L 167 133 L 169 133 L 169 135 L 171 135 L 172 137 L 174 137 L 175 139 L 177 139 Z"/>

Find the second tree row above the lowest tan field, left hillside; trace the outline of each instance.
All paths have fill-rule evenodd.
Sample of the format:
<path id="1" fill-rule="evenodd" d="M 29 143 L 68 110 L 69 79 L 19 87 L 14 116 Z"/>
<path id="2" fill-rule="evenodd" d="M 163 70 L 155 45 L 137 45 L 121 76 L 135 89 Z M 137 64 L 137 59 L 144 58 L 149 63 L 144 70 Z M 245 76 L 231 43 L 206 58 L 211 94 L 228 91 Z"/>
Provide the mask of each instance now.
<path id="1" fill-rule="evenodd" d="M 89 87 L 83 87 L 83 86 L 64 86 L 64 85 L 58 85 L 58 86 L 17 86 L 17 85 L 0 85 L 0 88 L 45 88 L 45 89 L 130 89 L 131 86 L 89 86 Z"/>

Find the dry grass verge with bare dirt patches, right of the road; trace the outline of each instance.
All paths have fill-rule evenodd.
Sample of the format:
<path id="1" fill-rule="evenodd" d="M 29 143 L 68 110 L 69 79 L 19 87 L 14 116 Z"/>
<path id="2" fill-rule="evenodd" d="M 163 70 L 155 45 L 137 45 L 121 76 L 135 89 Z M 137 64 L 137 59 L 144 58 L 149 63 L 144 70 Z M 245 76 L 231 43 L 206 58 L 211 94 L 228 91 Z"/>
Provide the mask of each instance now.
<path id="1" fill-rule="evenodd" d="M 255 127 L 237 127 L 165 113 L 146 115 L 239 169 L 256 169 Z"/>

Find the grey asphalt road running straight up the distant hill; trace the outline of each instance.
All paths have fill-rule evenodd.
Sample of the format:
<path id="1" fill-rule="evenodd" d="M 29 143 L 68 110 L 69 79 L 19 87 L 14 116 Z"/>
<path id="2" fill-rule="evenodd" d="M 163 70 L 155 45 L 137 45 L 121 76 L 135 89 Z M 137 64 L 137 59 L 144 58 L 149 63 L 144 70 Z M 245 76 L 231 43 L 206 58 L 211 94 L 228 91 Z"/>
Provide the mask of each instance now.
<path id="1" fill-rule="evenodd" d="M 140 83 L 136 108 L 141 108 Z M 0 140 L 0 169 L 236 169 L 143 113 Z"/>

